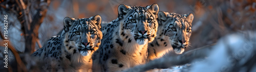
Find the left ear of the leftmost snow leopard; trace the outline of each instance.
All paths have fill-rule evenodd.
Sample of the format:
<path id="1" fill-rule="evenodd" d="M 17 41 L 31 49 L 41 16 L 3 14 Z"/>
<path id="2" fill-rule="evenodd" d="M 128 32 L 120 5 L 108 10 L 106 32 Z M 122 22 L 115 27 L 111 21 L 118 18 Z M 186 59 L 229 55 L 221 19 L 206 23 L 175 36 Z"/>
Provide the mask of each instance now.
<path id="1" fill-rule="evenodd" d="M 69 28 L 71 27 L 72 23 L 73 23 L 74 18 L 70 18 L 70 17 L 65 17 L 63 20 L 64 23 L 64 31 L 68 32 Z"/>

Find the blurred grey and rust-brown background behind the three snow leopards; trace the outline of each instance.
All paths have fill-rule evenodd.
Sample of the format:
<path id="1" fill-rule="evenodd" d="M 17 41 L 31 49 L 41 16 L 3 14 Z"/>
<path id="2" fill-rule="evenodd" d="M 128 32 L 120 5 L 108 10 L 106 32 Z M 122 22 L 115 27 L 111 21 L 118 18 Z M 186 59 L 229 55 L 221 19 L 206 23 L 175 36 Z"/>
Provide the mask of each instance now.
<path id="1" fill-rule="evenodd" d="M 36 41 L 32 41 L 32 43 L 36 42 L 35 45 L 31 46 L 34 50 L 39 49 L 40 46 L 44 46 L 47 40 L 62 31 L 63 18 L 88 18 L 98 14 L 102 17 L 102 21 L 112 21 L 117 18 L 117 7 L 120 4 L 127 6 L 158 4 L 160 11 L 175 12 L 178 14 L 193 13 L 194 20 L 192 22 L 192 35 L 190 37 L 191 46 L 186 51 L 216 43 L 221 37 L 230 33 L 255 32 L 256 30 L 255 0 L 24 0 L 23 4 L 21 1 L 0 0 L 0 31 L 2 34 L 4 33 L 3 18 L 7 14 L 9 42 L 11 42 L 18 53 L 24 53 L 26 51 L 25 46 L 28 42 L 25 36 L 30 35 L 26 33 L 26 27 L 23 24 L 24 21 L 20 20 L 21 17 L 23 18 L 24 13 L 20 9 L 24 8 L 20 7 L 23 4 L 27 6 L 27 9 L 30 9 L 30 13 L 27 15 L 31 15 L 29 19 L 32 20 L 28 22 L 32 26 L 35 24 L 33 23 L 33 20 L 36 18 L 34 15 L 38 13 L 38 10 L 47 10 L 43 14 L 44 17 L 42 17 L 42 20 L 40 19 L 39 26 L 35 28 L 38 33 L 35 33 L 35 36 L 37 36 Z M 17 4 L 17 2 L 20 4 Z M 43 4 L 44 2 L 45 4 Z M 44 8 L 40 8 L 44 5 Z M 41 12 L 39 12 L 40 14 Z M 31 34 L 34 33 L 31 32 Z M 4 46 L 1 45 L 3 52 L 4 49 L 2 47 L 4 48 Z M 0 53 L 0 56 L 3 55 L 3 53 L 2 55 Z"/>

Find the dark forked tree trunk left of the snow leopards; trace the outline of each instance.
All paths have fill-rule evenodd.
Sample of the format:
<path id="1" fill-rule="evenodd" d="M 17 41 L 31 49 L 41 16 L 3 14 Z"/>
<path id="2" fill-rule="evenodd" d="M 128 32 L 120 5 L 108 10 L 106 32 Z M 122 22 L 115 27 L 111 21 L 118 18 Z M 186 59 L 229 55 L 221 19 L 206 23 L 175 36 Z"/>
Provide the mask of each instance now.
<path id="1" fill-rule="evenodd" d="M 31 14 L 31 5 L 28 3 L 24 7 L 24 3 L 22 0 L 18 2 L 16 0 L 17 4 L 19 5 L 20 8 L 22 8 L 22 19 L 19 19 L 20 23 L 22 23 L 22 26 L 24 27 L 24 35 L 25 35 L 25 53 L 33 53 L 35 50 L 35 43 L 37 42 L 39 47 L 41 47 L 41 44 L 37 41 L 38 39 L 38 30 L 39 27 L 44 20 L 46 13 L 47 13 L 47 8 L 50 4 L 50 0 L 46 1 L 40 1 L 38 4 L 38 8 L 36 9 L 36 14 Z M 36 1 L 37 2 L 37 1 Z M 33 4 L 33 3 L 32 3 Z M 27 8 L 26 8 L 27 6 Z M 32 16 L 33 15 L 33 16 Z M 31 17 L 33 17 L 31 20 Z"/>

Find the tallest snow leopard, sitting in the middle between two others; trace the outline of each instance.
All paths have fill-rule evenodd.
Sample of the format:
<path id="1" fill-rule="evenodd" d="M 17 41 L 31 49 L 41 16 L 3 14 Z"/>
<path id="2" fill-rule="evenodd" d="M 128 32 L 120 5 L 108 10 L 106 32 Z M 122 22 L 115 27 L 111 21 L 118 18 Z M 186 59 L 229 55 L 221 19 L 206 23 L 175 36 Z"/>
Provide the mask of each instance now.
<path id="1" fill-rule="evenodd" d="M 147 44 L 157 33 L 158 5 L 119 5 L 118 18 L 103 29 L 100 48 L 95 52 L 94 71 L 121 71 L 147 58 Z M 100 69 L 100 70 L 99 70 Z"/>

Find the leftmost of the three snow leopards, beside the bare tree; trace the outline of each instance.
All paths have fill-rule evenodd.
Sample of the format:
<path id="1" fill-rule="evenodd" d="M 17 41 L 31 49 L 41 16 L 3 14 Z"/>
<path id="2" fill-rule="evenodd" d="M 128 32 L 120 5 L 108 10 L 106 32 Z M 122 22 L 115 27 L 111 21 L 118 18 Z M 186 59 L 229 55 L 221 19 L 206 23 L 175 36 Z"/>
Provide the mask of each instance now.
<path id="1" fill-rule="evenodd" d="M 102 39 L 101 17 L 63 20 L 64 30 L 32 54 L 42 71 L 92 71 L 92 54 Z"/>

